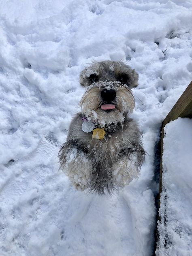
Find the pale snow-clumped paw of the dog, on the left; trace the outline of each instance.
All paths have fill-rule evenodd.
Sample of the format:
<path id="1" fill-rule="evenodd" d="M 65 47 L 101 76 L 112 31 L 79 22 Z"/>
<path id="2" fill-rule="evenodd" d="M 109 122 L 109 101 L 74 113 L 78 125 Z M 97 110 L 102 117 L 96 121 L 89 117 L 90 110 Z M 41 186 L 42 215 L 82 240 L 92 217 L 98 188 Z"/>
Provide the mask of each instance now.
<path id="1" fill-rule="evenodd" d="M 90 184 L 91 161 L 86 154 L 76 148 L 69 149 L 62 170 L 77 190 L 85 190 Z"/>

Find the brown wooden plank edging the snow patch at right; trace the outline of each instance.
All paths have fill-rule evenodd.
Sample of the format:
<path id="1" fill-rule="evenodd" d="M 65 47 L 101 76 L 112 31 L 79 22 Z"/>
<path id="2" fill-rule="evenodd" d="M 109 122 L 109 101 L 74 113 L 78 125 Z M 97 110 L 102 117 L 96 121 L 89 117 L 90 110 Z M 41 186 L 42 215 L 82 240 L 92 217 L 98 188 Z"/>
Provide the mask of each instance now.
<path id="1" fill-rule="evenodd" d="M 162 154 L 163 154 L 163 138 L 164 138 L 164 127 L 170 121 L 177 119 L 178 117 L 188 117 L 192 118 L 192 81 L 183 92 L 179 100 L 175 103 L 169 114 L 165 117 L 161 126 L 161 137 L 160 137 L 160 180 L 159 180 L 159 202 L 158 202 L 158 212 L 160 209 L 160 197 L 162 192 Z M 161 222 L 161 218 L 158 215 L 158 220 Z M 159 234 L 157 230 L 157 242 L 159 240 Z"/>

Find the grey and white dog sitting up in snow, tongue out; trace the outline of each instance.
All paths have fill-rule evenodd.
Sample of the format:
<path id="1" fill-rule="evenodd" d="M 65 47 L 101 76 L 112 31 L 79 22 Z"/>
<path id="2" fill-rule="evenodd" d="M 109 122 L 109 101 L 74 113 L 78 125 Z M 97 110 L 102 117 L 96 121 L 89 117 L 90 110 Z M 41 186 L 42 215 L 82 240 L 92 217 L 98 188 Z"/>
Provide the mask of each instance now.
<path id="1" fill-rule="evenodd" d="M 94 62 L 81 71 L 86 88 L 59 151 L 60 168 L 77 190 L 111 193 L 138 177 L 145 158 L 142 135 L 128 115 L 138 74 L 123 62 Z"/>

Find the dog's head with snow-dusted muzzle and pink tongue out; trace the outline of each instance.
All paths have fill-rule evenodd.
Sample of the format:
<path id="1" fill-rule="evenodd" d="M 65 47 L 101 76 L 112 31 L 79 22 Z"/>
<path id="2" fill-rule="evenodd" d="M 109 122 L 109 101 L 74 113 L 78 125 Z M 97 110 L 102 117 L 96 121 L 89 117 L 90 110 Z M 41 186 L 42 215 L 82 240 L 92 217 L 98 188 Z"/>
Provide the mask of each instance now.
<path id="1" fill-rule="evenodd" d="M 103 61 L 91 64 L 80 73 L 87 90 L 80 106 L 83 114 L 100 125 L 124 121 L 134 109 L 131 88 L 138 85 L 138 74 L 123 62 Z"/>

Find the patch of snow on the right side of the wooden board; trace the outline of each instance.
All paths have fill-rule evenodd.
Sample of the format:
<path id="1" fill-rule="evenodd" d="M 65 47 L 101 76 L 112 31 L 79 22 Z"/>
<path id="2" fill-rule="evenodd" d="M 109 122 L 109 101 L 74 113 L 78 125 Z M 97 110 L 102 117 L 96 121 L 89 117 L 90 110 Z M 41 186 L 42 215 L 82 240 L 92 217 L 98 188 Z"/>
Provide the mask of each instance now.
<path id="1" fill-rule="evenodd" d="M 178 118 L 165 126 L 157 255 L 190 256 L 192 252 L 191 142 L 191 119 Z"/>

